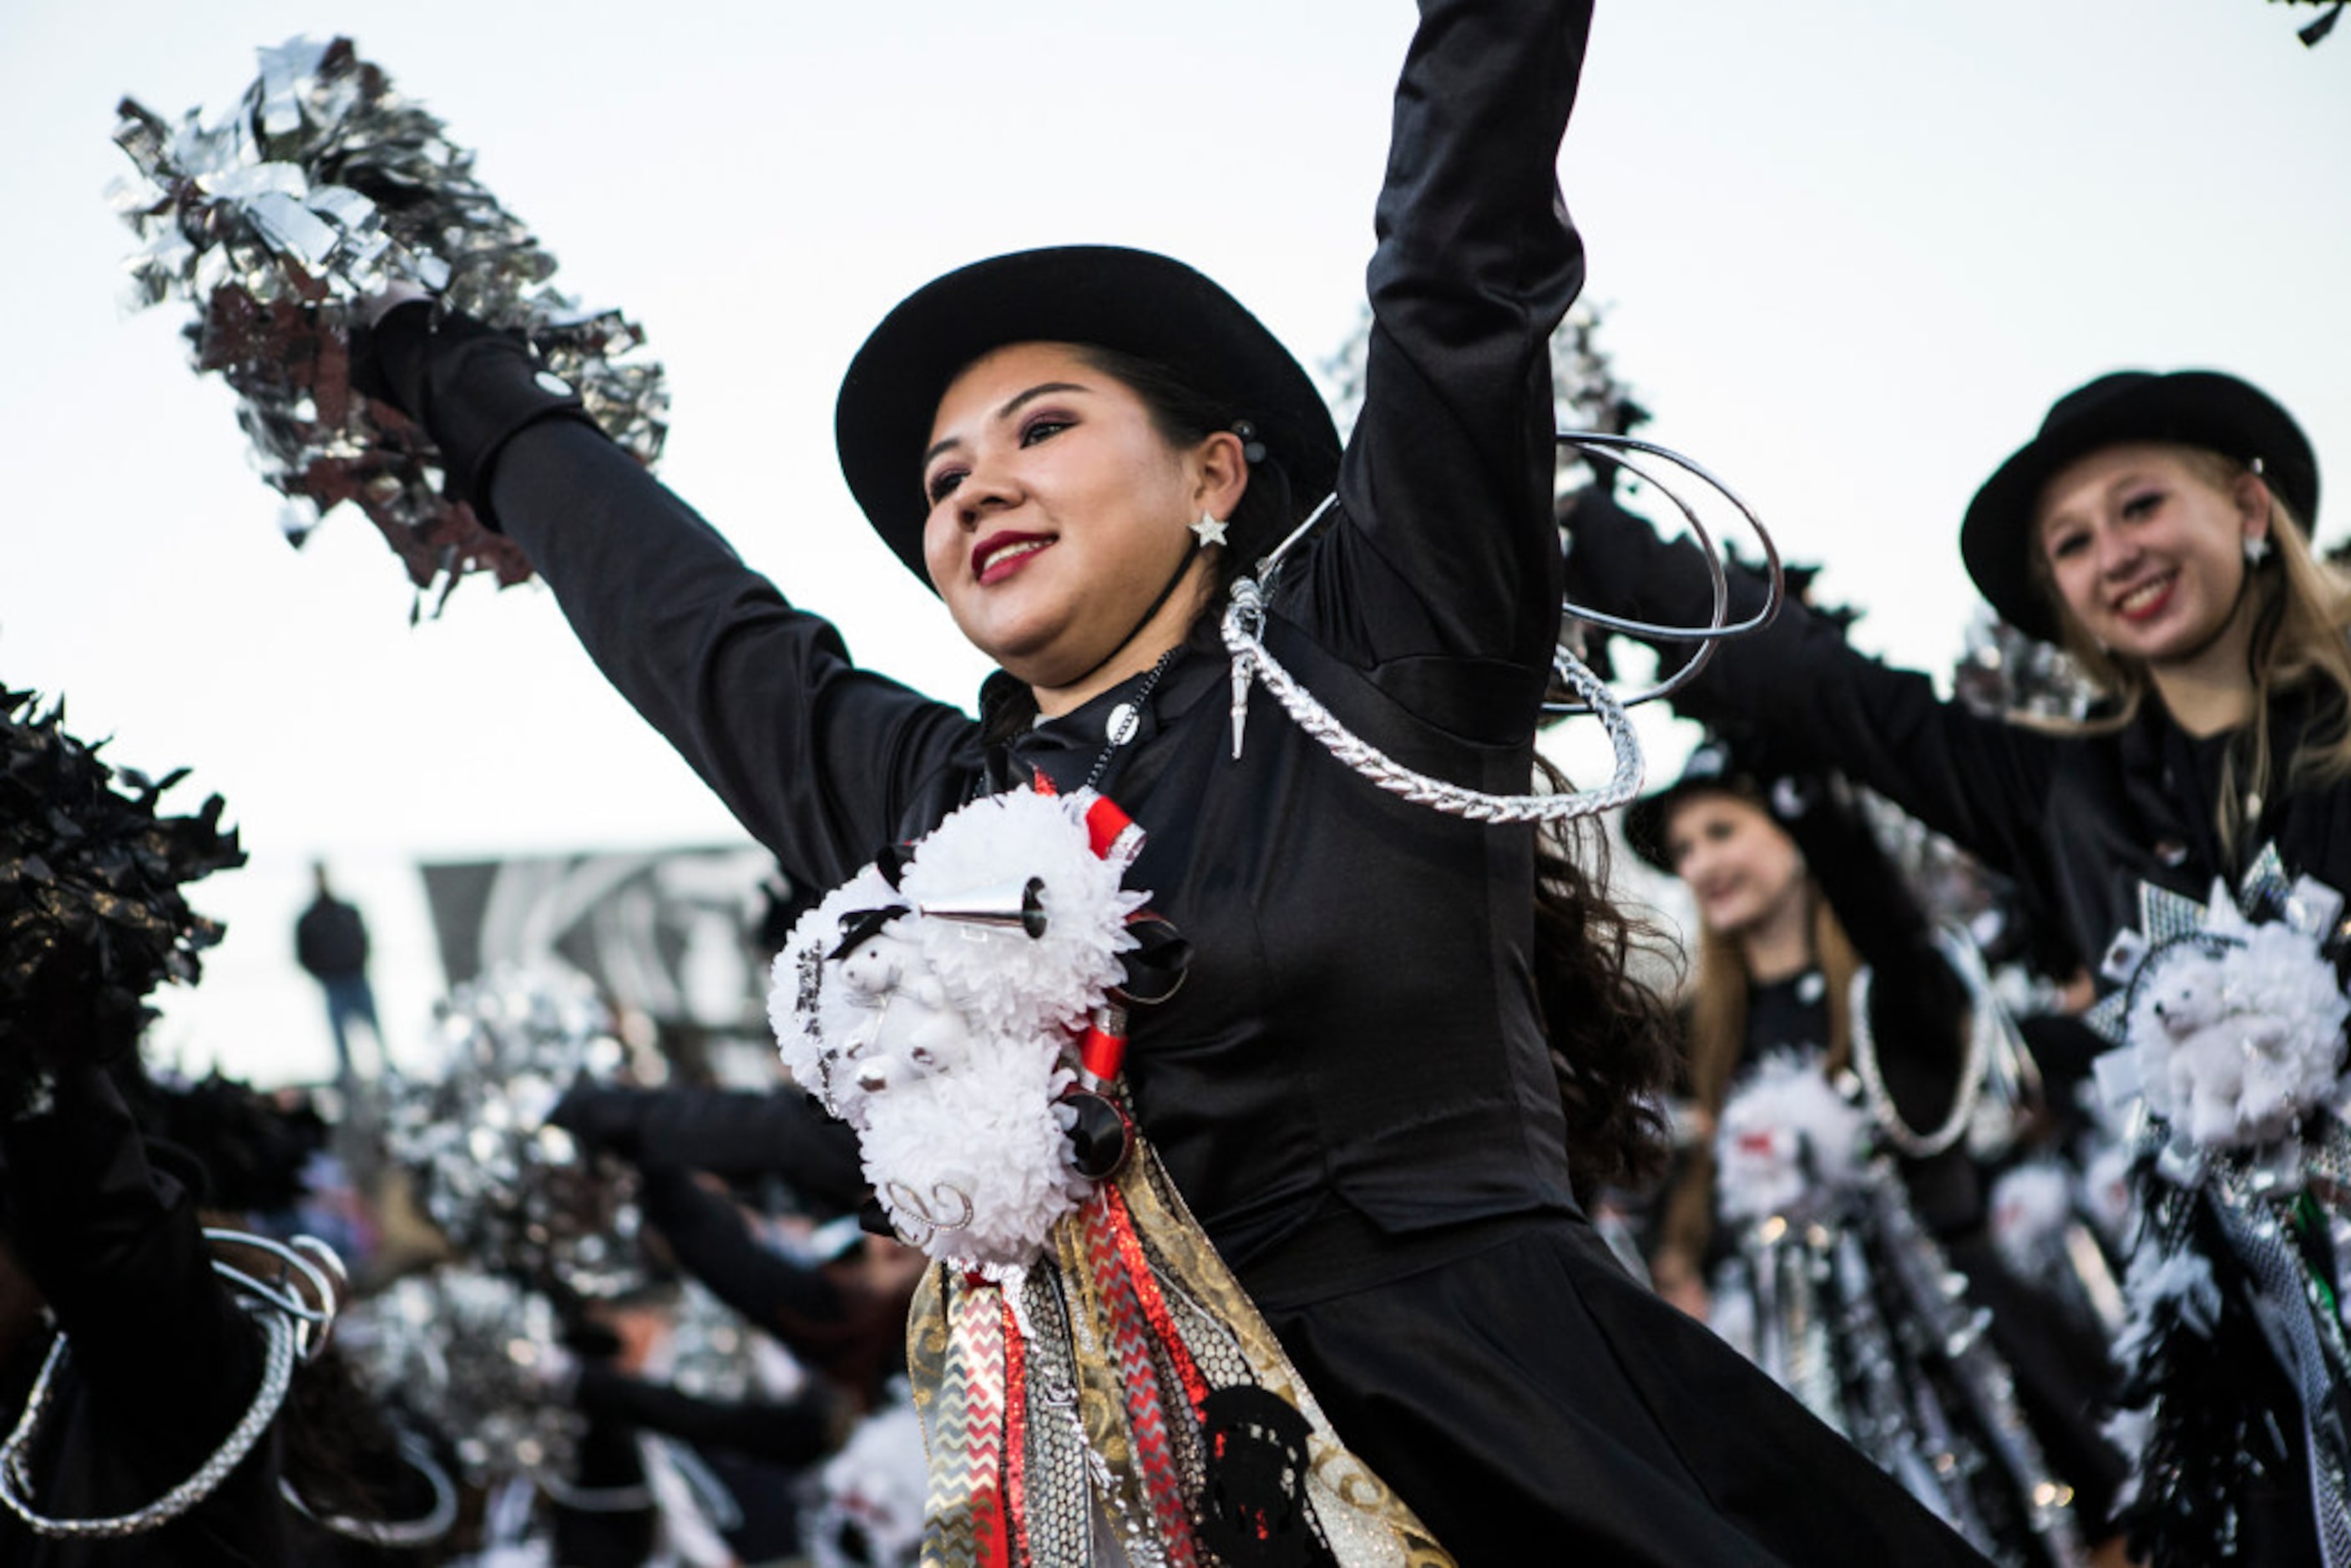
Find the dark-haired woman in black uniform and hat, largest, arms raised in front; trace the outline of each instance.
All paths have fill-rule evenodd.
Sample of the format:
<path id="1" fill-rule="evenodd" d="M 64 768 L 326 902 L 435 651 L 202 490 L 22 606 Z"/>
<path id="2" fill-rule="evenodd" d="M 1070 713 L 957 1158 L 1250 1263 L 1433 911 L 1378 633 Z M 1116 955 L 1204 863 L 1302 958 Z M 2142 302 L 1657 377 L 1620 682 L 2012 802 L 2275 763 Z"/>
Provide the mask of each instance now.
<path id="1" fill-rule="evenodd" d="M 1265 696 L 1234 712 L 1223 588 L 1335 487 L 1265 646 L 1408 766 L 1523 792 L 1535 764 L 1561 583 L 1545 343 L 1582 282 L 1554 158 L 1589 7 L 1420 12 L 1345 454 L 1298 362 L 1161 256 L 980 261 L 858 353 L 842 463 L 999 665 L 978 722 L 858 670 L 517 343 L 407 303 L 379 386 L 795 877 L 839 882 L 1004 790 L 1096 788 L 1136 818 L 1128 882 L 1194 954 L 1133 1023 L 1133 1117 L 1415 1516 L 1415 1561 L 1970 1561 L 1585 1220 L 1578 1185 L 1646 1159 L 1662 1056 L 1575 865 L 1371 788 Z"/>

